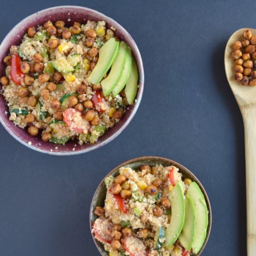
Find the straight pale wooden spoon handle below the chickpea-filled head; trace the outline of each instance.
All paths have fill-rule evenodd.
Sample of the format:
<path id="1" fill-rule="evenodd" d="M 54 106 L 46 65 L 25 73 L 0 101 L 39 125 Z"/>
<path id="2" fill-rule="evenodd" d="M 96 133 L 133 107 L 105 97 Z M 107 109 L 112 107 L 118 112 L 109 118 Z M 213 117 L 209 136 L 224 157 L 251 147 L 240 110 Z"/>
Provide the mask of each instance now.
<path id="1" fill-rule="evenodd" d="M 247 255 L 256 256 L 256 108 L 242 110 L 245 136 Z"/>

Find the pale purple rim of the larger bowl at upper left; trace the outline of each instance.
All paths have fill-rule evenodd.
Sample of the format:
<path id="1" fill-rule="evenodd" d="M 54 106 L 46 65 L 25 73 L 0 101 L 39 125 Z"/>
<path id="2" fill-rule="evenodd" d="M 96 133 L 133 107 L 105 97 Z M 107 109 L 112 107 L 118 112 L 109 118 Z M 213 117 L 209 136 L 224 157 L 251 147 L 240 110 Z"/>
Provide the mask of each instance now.
<path id="1" fill-rule="evenodd" d="M 40 147 L 35 147 L 33 144 L 30 145 L 28 144 L 27 142 L 23 141 L 22 139 L 20 139 L 19 136 L 15 135 L 15 133 L 12 131 L 11 128 L 8 128 L 7 125 L 6 125 L 6 122 L 2 119 L 1 115 L 0 115 L 0 123 L 2 124 L 2 126 L 7 130 L 7 132 L 13 136 L 14 139 L 16 139 L 17 141 L 19 141 L 21 144 L 23 144 L 24 146 L 30 148 L 30 149 L 33 149 L 35 151 L 38 151 L 40 153 L 45 153 L 45 154 L 48 154 L 48 155 L 80 155 L 80 154 L 83 154 L 83 153 L 87 153 L 87 152 L 90 152 L 94 149 L 97 149 L 97 148 L 101 148 L 103 147 L 104 145 L 106 145 L 107 143 L 109 143 L 110 141 L 113 141 L 118 135 L 121 134 L 121 132 L 127 128 L 128 124 L 132 121 L 132 119 L 134 118 L 139 106 L 140 106 L 140 103 L 141 103 L 141 98 L 142 98 L 142 95 L 143 95 L 143 90 L 144 90 L 144 67 L 143 67 L 143 61 L 142 61 L 142 58 L 141 58 L 141 53 L 139 51 L 139 48 L 137 46 L 137 44 L 135 43 L 135 40 L 133 39 L 133 37 L 128 33 L 128 31 L 123 27 L 121 26 L 117 21 L 115 21 L 114 19 L 108 17 L 107 15 L 101 13 L 101 12 L 98 12 L 94 9 L 91 9 L 91 8 L 88 8 L 88 7 L 82 7 L 82 6 L 76 6 L 76 5 L 63 5 L 63 6 L 55 6 L 55 7 L 49 7 L 49 8 L 46 8 L 46 9 L 42 9 L 38 12 L 35 12 L 35 13 L 32 13 L 30 14 L 29 16 L 25 17 L 24 19 L 20 20 L 19 23 L 17 23 L 10 31 L 9 33 L 4 37 L 4 39 L 2 40 L 2 42 L 0 43 L 0 51 L 2 50 L 2 48 L 4 47 L 4 45 L 7 44 L 7 39 L 9 38 L 10 34 L 12 34 L 13 30 L 16 29 L 16 27 L 20 26 L 21 24 L 23 24 L 24 22 L 28 21 L 28 20 L 32 20 L 34 17 L 36 17 L 38 14 L 40 13 L 45 13 L 47 14 L 47 12 L 49 11 L 52 11 L 52 10 L 56 10 L 56 9 L 59 9 L 59 8 L 64 8 L 64 9 L 68 9 L 68 8 L 75 8 L 75 9 L 81 9 L 81 10 L 84 10 L 84 11 L 90 11 L 94 14 L 97 14 L 97 15 L 101 15 L 103 17 L 104 20 L 109 20 L 111 21 L 113 24 L 116 24 L 118 27 L 120 27 L 123 31 L 125 31 L 125 33 L 127 34 L 128 37 L 130 37 L 130 40 L 132 41 L 132 44 L 133 44 L 133 49 L 134 49 L 134 52 L 137 56 L 137 65 L 140 66 L 141 68 L 141 74 L 140 75 L 140 79 L 141 79 L 141 85 L 140 85 L 140 91 L 138 90 L 137 92 L 137 96 L 135 98 L 135 105 L 134 105 L 134 108 L 132 109 L 130 115 L 128 116 L 127 120 L 122 124 L 122 126 L 114 133 L 112 134 L 111 136 L 109 136 L 106 140 L 103 140 L 101 141 L 99 144 L 90 144 L 90 147 L 88 148 L 84 148 L 84 149 L 81 149 L 81 150 L 67 150 L 67 151 L 48 151 L 46 149 L 42 149 Z M 139 93 L 140 92 L 140 93 Z M 49 142 L 50 143 L 50 142 Z"/>

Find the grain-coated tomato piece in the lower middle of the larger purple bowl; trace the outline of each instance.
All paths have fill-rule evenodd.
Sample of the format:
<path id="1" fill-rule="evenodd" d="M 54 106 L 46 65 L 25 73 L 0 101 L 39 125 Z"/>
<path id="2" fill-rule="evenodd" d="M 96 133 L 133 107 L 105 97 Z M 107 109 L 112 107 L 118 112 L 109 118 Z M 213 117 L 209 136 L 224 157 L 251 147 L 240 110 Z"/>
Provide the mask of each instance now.
<path id="1" fill-rule="evenodd" d="M 71 130 L 77 133 L 87 134 L 90 129 L 90 124 L 83 119 L 81 112 L 74 108 L 67 108 L 63 113 L 63 120 Z"/>

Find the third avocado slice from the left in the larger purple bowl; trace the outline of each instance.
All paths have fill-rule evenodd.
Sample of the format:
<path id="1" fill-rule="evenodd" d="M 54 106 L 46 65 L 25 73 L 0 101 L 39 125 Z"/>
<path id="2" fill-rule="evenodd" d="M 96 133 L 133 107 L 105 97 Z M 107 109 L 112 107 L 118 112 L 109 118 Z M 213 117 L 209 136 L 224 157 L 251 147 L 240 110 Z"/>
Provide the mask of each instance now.
<path id="1" fill-rule="evenodd" d="M 125 64 L 124 68 L 121 74 L 121 77 L 117 84 L 115 85 L 115 88 L 112 91 L 112 95 L 115 97 L 117 94 L 121 92 L 121 90 L 125 87 L 130 72 L 131 72 L 131 67 L 132 67 L 132 51 L 130 47 L 126 48 L 126 59 L 125 59 Z"/>

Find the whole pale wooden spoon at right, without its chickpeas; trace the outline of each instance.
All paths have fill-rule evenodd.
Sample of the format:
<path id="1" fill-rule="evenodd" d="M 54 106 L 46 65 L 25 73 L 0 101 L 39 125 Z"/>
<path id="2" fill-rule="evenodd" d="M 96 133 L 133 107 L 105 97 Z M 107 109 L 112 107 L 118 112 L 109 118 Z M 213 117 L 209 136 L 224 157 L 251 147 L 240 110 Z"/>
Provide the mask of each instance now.
<path id="1" fill-rule="evenodd" d="M 246 207 L 247 207 L 247 255 L 256 256 L 256 87 L 242 86 L 234 79 L 235 61 L 232 58 L 232 44 L 243 40 L 243 32 L 250 29 L 253 35 L 256 30 L 242 28 L 237 30 L 228 40 L 224 63 L 229 86 L 243 116 L 245 136 L 246 165 Z"/>

